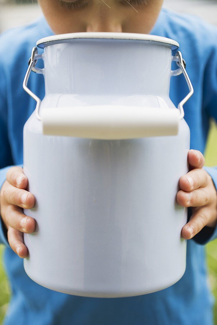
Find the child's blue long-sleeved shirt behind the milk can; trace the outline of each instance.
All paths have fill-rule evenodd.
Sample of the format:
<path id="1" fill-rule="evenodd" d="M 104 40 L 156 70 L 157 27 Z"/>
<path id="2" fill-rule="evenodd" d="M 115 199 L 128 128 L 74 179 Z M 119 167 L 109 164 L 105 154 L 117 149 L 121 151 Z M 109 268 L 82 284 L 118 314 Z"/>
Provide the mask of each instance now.
<path id="1" fill-rule="evenodd" d="M 190 147 L 204 152 L 210 118 L 217 120 L 217 28 L 197 17 L 162 9 L 151 33 L 180 44 L 195 91 L 184 106 L 191 131 Z M 0 186 L 8 168 L 23 162 L 22 129 L 35 109 L 34 100 L 22 88 L 32 47 L 38 39 L 52 34 L 41 17 L 0 35 Z M 160 64 L 160 58 L 156 64 Z M 40 98 L 44 97 L 42 75 L 32 73 L 28 85 Z M 187 91 L 183 75 L 172 78 L 170 97 L 175 105 Z M 217 188 L 217 168 L 206 170 Z M 129 298 L 85 298 L 49 290 L 30 279 L 23 260 L 8 244 L 1 220 L 0 243 L 6 245 L 4 264 L 12 289 L 4 324 L 211 325 L 213 297 L 207 281 L 204 244 L 216 237 L 217 227 L 205 227 L 187 241 L 185 274 L 165 290 Z"/>

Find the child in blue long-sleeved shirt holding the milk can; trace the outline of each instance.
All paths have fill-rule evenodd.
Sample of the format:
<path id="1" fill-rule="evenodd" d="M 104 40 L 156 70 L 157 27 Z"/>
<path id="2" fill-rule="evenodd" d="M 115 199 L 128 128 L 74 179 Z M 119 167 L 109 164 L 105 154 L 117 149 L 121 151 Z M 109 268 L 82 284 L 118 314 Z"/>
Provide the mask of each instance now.
<path id="1" fill-rule="evenodd" d="M 162 2 L 40 0 L 44 17 L 0 36 L 0 242 L 6 245 L 4 263 L 12 289 L 4 324 L 213 324 L 204 244 L 217 237 L 217 169 L 203 167 L 202 152 L 210 117 L 217 119 L 217 28 L 197 17 L 161 9 Z M 182 229 L 182 237 L 188 240 L 185 274 L 165 290 L 129 298 L 77 297 L 38 285 L 23 269 L 28 254 L 23 232 L 34 232 L 35 224 L 22 213 L 22 208 L 34 206 L 21 167 L 22 129 L 35 102 L 22 89 L 22 82 L 36 41 L 68 32 L 151 33 L 180 43 L 195 91 L 184 106 L 191 130 L 190 171 L 180 178 L 177 193 L 178 204 L 189 207 L 190 220 Z M 43 76 L 32 73 L 29 87 L 43 98 Z M 172 78 L 172 101 L 177 105 L 186 93 L 183 75 Z"/>

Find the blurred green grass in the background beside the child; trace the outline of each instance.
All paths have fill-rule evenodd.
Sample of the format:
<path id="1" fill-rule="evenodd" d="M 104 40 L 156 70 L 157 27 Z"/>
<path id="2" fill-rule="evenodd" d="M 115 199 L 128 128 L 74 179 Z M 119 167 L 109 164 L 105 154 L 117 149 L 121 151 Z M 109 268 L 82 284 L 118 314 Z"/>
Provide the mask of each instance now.
<path id="1" fill-rule="evenodd" d="M 210 128 L 209 139 L 205 152 L 206 166 L 217 165 L 217 126 L 212 122 Z M 7 305 L 10 300 L 10 287 L 7 280 L 7 276 L 2 264 L 2 254 L 4 246 L 0 245 L 0 325 L 3 322 L 5 313 L 7 311 Z M 206 245 L 207 250 L 207 262 L 209 267 L 209 281 L 212 288 L 212 292 L 215 296 L 216 303 L 214 306 L 214 318 L 215 325 L 217 325 L 217 240 L 213 240 Z"/>

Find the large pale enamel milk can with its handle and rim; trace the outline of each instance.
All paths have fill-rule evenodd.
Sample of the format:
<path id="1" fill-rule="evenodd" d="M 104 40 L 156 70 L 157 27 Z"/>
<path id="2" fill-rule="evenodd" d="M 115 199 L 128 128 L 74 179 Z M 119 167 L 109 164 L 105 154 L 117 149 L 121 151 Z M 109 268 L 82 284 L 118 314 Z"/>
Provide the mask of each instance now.
<path id="1" fill-rule="evenodd" d="M 34 47 L 23 87 L 37 102 L 23 130 L 23 170 L 35 206 L 24 233 L 28 276 L 87 297 L 127 297 L 171 286 L 184 274 L 187 209 L 176 202 L 188 172 L 193 94 L 178 43 L 113 32 L 54 35 Z M 44 68 L 36 67 L 37 60 Z M 177 69 L 171 71 L 172 61 Z M 42 73 L 41 101 L 27 87 Z M 189 94 L 178 109 L 170 77 Z"/>

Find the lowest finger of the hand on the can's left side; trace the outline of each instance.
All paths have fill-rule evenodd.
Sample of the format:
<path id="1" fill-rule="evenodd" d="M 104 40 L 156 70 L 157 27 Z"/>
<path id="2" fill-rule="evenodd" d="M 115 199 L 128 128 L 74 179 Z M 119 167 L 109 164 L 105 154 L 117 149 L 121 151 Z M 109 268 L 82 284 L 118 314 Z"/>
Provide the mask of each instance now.
<path id="1" fill-rule="evenodd" d="M 28 249 L 23 243 L 23 234 L 17 229 L 11 227 L 7 231 L 7 239 L 12 250 L 21 258 L 28 256 Z"/>

